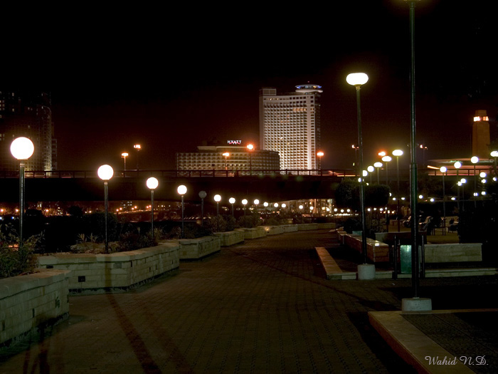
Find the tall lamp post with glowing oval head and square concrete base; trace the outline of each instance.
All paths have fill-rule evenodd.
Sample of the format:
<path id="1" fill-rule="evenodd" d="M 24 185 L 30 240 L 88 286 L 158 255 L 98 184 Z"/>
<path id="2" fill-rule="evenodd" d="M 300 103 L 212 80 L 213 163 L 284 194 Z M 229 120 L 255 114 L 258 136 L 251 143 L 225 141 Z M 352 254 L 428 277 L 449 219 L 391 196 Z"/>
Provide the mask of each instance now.
<path id="1" fill-rule="evenodd" d="M 358 154 L 359 154 L 359 170 L 363 170 L 363 135 L 361 130 L 361 105 L 360 105 L 360 89 L 361 85 L 368 82 L 369 76 L 365 73 L 351 73 L 346 77 L 346 82 L 354 85 L 356 88 L 356 114 L 358 116 Z M 365 217 L 365 180 L 361 177 L 360 182 L 360 209 L 361 209 L 361 249 L 363 251 L 363 265 L 358 266 L 359 279 L 375 278 L 375 265 L 367 264 L 366 256 L 366 217 Z M 373 269 L 372 269 L 373 267 Z"/>

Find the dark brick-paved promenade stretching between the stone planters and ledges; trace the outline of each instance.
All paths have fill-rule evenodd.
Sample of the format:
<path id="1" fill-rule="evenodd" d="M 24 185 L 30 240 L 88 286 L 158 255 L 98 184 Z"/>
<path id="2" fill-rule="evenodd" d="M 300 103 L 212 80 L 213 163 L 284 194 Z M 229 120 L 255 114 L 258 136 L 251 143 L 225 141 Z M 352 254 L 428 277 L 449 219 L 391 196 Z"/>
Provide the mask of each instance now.
<path id="1" fill-rule="evenodd" d="M 132 291 L 70 296 L 70 317 L 4 350 L 0 373 L 415 373 L 368 316 L 399 311 L 410 279 L 325 279 L 314 248 L 335 240 L 246 240 Z M 423 279 L 420 294 L 497 308 L 497 279 Z"/>

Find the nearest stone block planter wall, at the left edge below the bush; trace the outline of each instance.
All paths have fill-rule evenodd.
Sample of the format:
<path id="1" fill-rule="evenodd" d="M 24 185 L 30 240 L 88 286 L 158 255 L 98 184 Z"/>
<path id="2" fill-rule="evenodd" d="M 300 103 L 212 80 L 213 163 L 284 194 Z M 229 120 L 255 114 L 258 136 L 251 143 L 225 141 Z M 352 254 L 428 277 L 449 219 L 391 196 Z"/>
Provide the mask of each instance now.
<path id="1" fill-rule="evenodd" d="M 38 326 L 68 316 L 69 274 L 43 270 L 0 279 L 0 347 L 16 343 Z"/>

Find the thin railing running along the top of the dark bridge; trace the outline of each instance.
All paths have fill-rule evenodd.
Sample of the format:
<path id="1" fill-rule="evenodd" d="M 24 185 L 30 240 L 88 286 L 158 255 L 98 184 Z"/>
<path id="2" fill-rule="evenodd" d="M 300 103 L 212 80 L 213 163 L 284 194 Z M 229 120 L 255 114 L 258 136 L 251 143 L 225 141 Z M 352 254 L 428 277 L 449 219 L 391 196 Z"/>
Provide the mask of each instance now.
<path id="1" fill-rule="evenodd" d="M 95 170 L 24 172 L 26 178 L 96 178 Z M 261 177 L 277 175 L 354 177 L 354 170 L 115 170 L 114 177 Z M 0 178 L 18 178 L 19 172 L 0 171 Z"/>

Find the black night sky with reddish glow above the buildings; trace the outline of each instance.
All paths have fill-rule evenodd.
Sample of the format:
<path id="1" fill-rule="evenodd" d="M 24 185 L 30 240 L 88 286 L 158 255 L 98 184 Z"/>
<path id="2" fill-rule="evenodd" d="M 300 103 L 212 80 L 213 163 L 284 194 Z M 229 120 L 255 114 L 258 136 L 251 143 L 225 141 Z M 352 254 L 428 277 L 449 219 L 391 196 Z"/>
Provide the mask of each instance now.
<path id="1" fill-rule="evenodd" d="M 410 34 L 402 0 L 120 4 L 16 9 L 1 26 L 4 89 L 48 90 L 59 169 L 174 169 L 203 140 L 258 142 L 258 90 L 310 82 L 322 95 L 323 166 L 351 165 L 363 71 L 365 162 L 410 142 Z M 470 157 L 474 111 L 496 128 L 494 1 L 423 0 L 415 10 L 418 142 L 430 158 Z M 283 3 L 278 3 L 282 6 Z M 83 6 L 83 5 L 82 5 Z M 85 6 L 90 6 L 85 4 Z M 325 9 L 327 8 L 327 9 Z"/>

